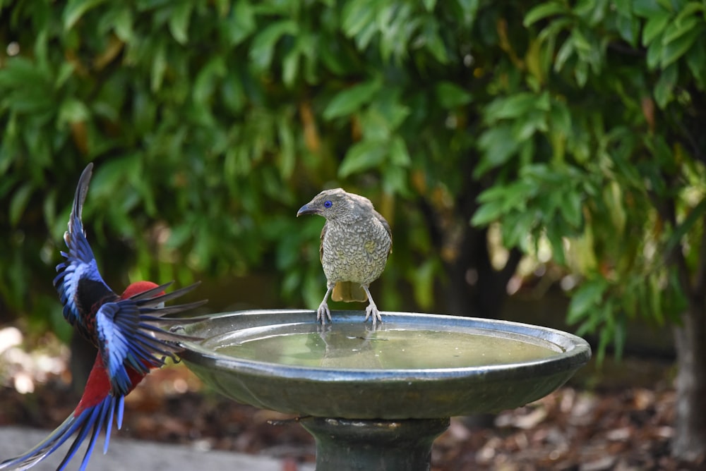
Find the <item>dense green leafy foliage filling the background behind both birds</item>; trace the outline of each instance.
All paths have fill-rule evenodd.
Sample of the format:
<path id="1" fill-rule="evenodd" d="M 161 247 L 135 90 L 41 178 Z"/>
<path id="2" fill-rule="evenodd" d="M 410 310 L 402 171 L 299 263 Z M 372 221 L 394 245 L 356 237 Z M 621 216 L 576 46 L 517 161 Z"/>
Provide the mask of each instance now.
<path id="1" fill-rule="evenodd" d="M 674 451 L 693 458 L 705 8 L 0 0 L 0 322 L 68 336 L 49 280 L 88 161 L 109 283 L 205 279 L 212 310 L 318 305 L 323 219 L 294 214 L 343 186 L 393 226 L 385 310 L 496 317 L 522 254 L 544 250 L 578 281 L 568 321 L 599 357 L 628 319 L 676 323 Z"/>

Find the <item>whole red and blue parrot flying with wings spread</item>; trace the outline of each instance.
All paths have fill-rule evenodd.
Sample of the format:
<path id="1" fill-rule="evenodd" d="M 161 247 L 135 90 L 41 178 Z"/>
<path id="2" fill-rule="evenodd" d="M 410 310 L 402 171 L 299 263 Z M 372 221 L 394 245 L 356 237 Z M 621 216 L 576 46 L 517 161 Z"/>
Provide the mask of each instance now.
<path id="1" fill-rule="evenodd" d="M 64 234 L 67 252 L 64 262 L 56 267 L 59 274 L 54 286 L 64 305 L 64 317 L 79 334 L 93 343 L 98 354 L 86 382 L 78 406 L 47 439 L 30 451 L 4 460 L 0 470 L 25 470 L 59 448 L 77 434 L 66 457 L 59 465 L 64 470 L 80 444 L 90 434 L 88 449 L 80 470 L 85 470 L 95 441 L 105 431 L 104 450 L 108 448 L 113 420 L 121 427 L 124 398 L 147 376 L 152 368 L 164 365 L 167 357 L 177 360 L 179 341 L 188 336 L 165 330 L 191 319 L 164 319 L 173 314 L 202 305 L 204 301 L 164 307 L 164 302 L 183 295 L 198 283 L 165 294 L 171 283 L 157 285 L 149 281 L 132 283 L 117 295 L 103 281 L 93 252 L 83 230 L 81 212 L 88 192 L 92 164 L 81 174 L 73 200 L 73 209 Z"/>

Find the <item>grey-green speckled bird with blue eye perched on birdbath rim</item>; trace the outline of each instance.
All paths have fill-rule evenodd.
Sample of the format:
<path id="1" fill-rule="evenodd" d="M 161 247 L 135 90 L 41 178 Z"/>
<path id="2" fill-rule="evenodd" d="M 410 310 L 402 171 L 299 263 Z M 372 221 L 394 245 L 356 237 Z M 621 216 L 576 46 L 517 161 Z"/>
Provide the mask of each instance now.
<path id="1" fill-rule="evenodd" d="M 316 310 L 316 320 L 331 320 L 328 296 L 334 301 L 365 302 L 365 320 L 380 321 L 380 312 L 370 295 L 370 283 L 378 279 L 392 252 L 390 224 L 366 197 L 341 188 L 324 190 L 297 212 L 325 217 L 321 230 L 321 265 L 326 275 L 326 294 Z"/>

